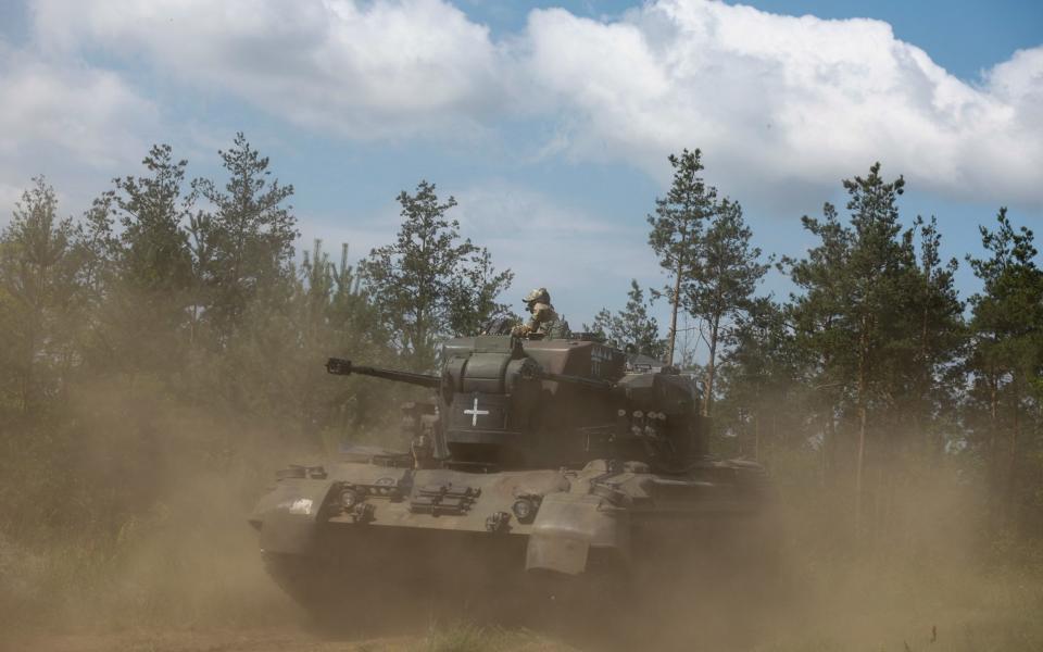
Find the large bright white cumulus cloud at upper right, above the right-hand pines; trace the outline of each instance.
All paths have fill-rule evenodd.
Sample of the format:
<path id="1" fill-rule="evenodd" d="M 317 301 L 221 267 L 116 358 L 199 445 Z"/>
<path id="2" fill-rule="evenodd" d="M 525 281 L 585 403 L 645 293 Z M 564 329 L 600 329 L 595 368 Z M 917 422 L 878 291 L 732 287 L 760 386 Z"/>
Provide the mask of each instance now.
<path id="1" fill-rule="evenodd" d="M 871 20 L 661 0 L 610 24 L 533 11 L 527 35 L 520 65 L 569 116 L 574 155 L 663 176 L 665 152 L 701 147 L 740 198 L 881 160 L 921 188 L 1043 201 L 1043 48 L 976 87 Z"/>

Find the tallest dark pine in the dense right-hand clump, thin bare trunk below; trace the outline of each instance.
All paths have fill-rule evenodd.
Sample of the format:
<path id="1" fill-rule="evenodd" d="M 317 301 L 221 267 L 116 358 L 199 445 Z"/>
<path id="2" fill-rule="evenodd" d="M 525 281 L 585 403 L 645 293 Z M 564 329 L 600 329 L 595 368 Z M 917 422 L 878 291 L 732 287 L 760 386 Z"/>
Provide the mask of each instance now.
<path id="1" fill-rule="evenodd" d="M 903 384 L 899 361 L 915 346 L 906 317 L 916 260 L 912 231 L 903 233 L 899 220 L 897 198 L 905 180 L 900 176 L 885 181 L 876 163 L 868 176 L 843 185 L 851 226 L 841 225 L 827 204 L 825 222 L 803 221 L 821 244 L 804 261 L 787 262 L 794 281 L 807 290 L 794 302 L 794 321 L 816 352 L 819 386 L 835 391 L 838 402 L 849 401 L 854 411 L 854 525 L 862 534 L 870 412 L 883 418 L 894 411 Z M 835 406 L 827 410 L 826 446 L 834 435 Z"/>

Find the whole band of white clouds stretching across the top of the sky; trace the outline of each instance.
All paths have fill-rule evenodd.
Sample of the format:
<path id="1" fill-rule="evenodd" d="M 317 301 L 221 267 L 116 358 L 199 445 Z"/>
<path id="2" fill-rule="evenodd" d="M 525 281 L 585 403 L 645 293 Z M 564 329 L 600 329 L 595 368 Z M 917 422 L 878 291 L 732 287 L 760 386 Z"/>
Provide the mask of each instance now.
<path id="1" fill-rule="evenodd" d="M 529 150 L 664 183 L 666 154 L 700 147 L 711 180 L 747 203 L 820 198 L 880 160 L 919 189 L 1043 205 L 1043 47 L 968 83 L 880 21 L 707 0 L 602 20 L 533 10 L 499 41 L 445 0 L 32 7 L 45 51 L 147 61 L 348 138 L 474 137 L 537 118 L 554 137 Z"/>

